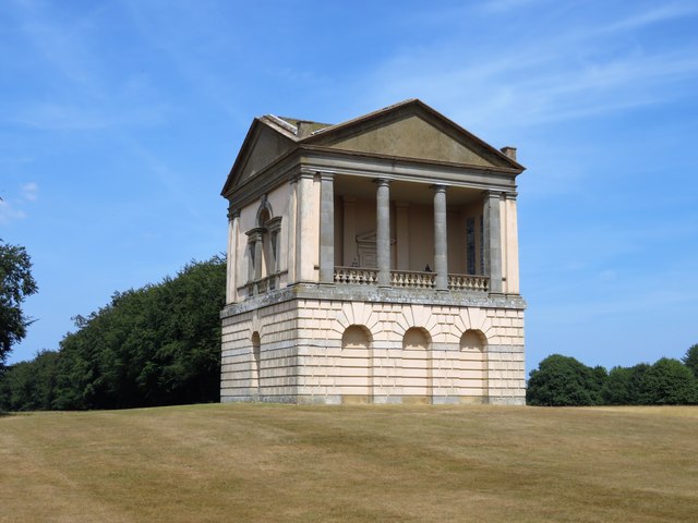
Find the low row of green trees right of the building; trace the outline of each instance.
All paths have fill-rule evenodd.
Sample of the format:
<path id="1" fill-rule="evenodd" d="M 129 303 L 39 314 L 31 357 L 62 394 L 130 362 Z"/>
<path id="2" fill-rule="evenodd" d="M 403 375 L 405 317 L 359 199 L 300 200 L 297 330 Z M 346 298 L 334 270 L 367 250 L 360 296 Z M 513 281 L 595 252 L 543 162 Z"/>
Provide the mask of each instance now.
<path id="1" fill-rule="evenodd" d="M 662 357 L 653 365 L 589 367 L 553 354 L 531 370 L 526 402 L 540 406 L 698 404 L 698 344 L 683 361 Z"/>

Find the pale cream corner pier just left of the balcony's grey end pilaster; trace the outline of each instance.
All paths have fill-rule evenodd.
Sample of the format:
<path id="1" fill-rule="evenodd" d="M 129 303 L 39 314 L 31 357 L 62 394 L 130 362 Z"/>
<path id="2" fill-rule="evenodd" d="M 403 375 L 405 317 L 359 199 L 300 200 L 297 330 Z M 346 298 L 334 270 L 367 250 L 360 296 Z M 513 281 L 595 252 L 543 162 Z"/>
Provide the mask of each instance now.
<path id="1" fill-rule="evenodd" d="M 301 173 L 297 184 L 296 280 L 312 281 L 313 253 L 313 174 Z M 317 239 L 314 239 L 317 241 Z"/>

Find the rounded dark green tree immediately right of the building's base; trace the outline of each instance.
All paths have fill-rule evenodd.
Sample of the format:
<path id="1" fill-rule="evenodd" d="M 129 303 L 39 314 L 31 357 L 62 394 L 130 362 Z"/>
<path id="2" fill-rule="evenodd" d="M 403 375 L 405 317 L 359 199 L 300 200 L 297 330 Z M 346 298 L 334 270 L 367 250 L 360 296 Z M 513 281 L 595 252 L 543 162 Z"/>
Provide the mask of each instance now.
<path id="1" fill-rule="evenodd" d="M 529 405 L 564 406 L 601 403 L 603 367 L 591 368 L 574 357 L 553 354 L 531 370 L 526 389 Z"/>

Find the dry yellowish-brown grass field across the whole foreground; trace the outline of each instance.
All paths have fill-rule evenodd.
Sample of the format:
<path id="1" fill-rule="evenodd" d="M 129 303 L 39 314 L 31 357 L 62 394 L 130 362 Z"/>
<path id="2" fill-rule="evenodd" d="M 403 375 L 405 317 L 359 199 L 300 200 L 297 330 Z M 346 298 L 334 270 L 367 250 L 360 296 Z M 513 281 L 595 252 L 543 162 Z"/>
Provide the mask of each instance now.
<path id="1" fill-rule="evenodd" d="M 0 522 L 698 521 L 698 408 L 0 417 Z"/>

